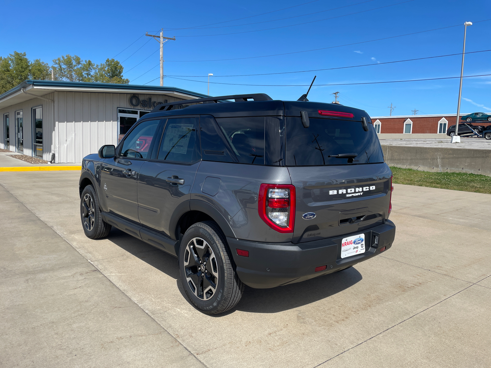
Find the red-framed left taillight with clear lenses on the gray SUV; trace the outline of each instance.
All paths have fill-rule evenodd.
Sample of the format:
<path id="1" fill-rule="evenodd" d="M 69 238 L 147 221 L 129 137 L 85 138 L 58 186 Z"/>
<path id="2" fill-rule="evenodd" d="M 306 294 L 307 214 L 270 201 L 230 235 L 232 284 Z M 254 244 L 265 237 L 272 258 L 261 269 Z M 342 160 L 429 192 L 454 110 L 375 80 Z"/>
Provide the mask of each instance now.
<path id="1" fill-rule="evenodd" d="M 263 221 L 278 233 L 293 233 L 295 186 L 261 184 L 257 210 Z"/>

